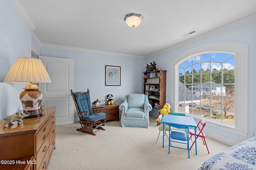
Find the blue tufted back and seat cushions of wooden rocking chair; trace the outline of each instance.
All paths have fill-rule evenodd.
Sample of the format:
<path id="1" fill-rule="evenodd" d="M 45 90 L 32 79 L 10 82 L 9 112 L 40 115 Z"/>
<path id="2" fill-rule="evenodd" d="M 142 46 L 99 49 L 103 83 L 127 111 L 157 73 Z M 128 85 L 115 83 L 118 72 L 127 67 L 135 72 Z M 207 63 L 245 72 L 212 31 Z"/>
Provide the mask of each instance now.
<path id="1" fill-rule="evenodd" d="M 82 94 L 76 94 L 76 93 L 73 93 L 73 94 L 74 94 L 74 97 L 76 100 L 78 110 L 80 112 L 88 111 L 87 112 L 88 118 L 85 121 L 95 121 L 97 119 L 100 119 L 100 118 L 106 116 L 106 113 L 93 113 L 92 106 L 90 103 L 90 93 L 89 92 L 82 93 Z M 86 113 L 84 113 L 84 117 L 86 117 Z"/>

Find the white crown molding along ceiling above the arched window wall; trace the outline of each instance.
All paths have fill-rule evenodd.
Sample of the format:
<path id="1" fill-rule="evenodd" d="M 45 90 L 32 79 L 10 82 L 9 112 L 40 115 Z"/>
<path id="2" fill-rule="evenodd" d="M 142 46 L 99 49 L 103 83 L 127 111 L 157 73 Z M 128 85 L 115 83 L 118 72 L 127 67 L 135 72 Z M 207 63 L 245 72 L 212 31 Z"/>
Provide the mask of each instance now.
<path id="1" fill-rule="evenodd" d="M 204 34 L 202 34 L 202 35 L 198 35 L 198 36 L 196 36 L 196 37 L 194 37 L 194 38 L 188 39 L 187 41 L 184 41 L 184 42 L 182 42 L 182 43 L 178 43 L 178 44 L 176 44 L 176 45 L 173 45 L 172 47 L 169 47 L 169 48 L 164 49 L 164 50 L 162 50 L 162 51 L 159 51 L 159 52 L 157 52 L 157 53 L 148 55 L 146 58 L 155 57 L 155 56 L 160 55 L 160 54 L 162 54 L 162 53 L 165 53 L 165 52 L 167 52 L 167 51 L 171 51 L 171 50 L 177 49 L 177 48 L 179 48 L 179 47 L 188 45 L 188 44 L 190 44 L 190 43 L 194 43 L 194 42 L 199 41 L 199 40 L 201 40 L 201 39 L 210 37 L 210 36 L 212 36 L 212 35 L 216 35 L 216 34 L 218 34 L 218 33 L 227 31 L 227 30 L 229 30 L 229 29 L 238 27 L 238 26 L 240 26 L 240 25 L 244 25 L 244 24 L 246 24 L 246 23 L 249 23 L 249 22 L 252 22 L 252 21 L 255 21 L 255 20 L 256 20 L 256 14 L 251 15 L 251 16 L 248 16 L 248 17 L 243 18 L 243 19 L 241 19 L 241 20 L 232 22 L 232 23 L 230 23 L 230 24 L 224 25 L 223 27 L 214 29 L 214 30 L 209 31 L 209 32 L 207 32 L 207 33 L 204 33 Z"/>

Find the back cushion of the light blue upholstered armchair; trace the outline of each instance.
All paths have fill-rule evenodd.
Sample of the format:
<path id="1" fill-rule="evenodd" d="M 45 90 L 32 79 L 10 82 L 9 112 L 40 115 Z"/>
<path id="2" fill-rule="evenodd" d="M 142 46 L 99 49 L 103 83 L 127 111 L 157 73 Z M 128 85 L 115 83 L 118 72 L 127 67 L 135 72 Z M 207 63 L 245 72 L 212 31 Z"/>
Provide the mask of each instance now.
<path id="1" fill-rule="evenodd" d="M 128 94 L 127 97 L 128 108 L 144 108 L 145 95 L 144 94 Z"/>

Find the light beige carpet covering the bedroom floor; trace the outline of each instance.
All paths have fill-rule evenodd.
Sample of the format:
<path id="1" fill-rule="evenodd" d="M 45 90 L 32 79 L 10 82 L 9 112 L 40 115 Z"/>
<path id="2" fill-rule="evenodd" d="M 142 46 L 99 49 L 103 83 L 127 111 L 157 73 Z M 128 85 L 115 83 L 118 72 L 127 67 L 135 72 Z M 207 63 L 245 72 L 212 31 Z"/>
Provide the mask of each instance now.
<path id="1" fill-rule="evenodd" d="M 205 160 L 230 147 L 206 137 L 210 154 L 201 138 L 197 155 L 194 146 L 190 158 L 182 149 L 170 148 L 168 154 L 167 137 L 162 148 L 162 132 L 156 143 L 159 131 L 155 119 L 150 116 L 148 129 L 106 121 L 106 131 L 98 131 L 96 136 L 76 131 L 80 123 L 56 126 L 56 149 L 48 170 L 197 170 Z"/>

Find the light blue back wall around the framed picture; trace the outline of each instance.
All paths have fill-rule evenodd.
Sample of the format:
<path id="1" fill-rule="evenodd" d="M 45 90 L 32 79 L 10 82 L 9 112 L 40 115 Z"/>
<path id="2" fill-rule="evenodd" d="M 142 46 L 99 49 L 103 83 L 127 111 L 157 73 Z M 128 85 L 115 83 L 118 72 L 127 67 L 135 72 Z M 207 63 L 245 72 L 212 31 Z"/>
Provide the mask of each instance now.
<path id="1" fill-rule="evenodd" d="M 143 93 L 145 59 L 45 47 L 40 47 L 39 52 L 42 56 L 74 59 L 75 89 L 72 90 L 79 92 L 89 88 L 91 102 L 100 99 L 106 104 L 106 96 L 112 94 L 113 102 L 119 105 L 126 94 Z M 121 67 L 121 86 L 105 86 L 105 65 Z"/>

